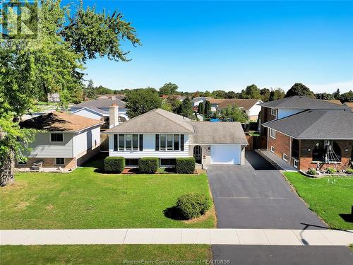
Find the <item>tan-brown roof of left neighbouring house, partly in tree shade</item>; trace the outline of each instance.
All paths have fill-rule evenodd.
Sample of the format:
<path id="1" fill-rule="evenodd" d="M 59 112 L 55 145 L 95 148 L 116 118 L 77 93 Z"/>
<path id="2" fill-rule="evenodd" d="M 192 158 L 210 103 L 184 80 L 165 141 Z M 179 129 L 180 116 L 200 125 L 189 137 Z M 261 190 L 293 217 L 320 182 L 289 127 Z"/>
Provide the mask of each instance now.
<path id="1" fill-rule="evenodd" d="M 90 119 L 67 112 L 50 112 L 20 122 L 22 128 L 44 131 L 82 131 L 92 126 L 103 124 L 97 119 Z"/>

